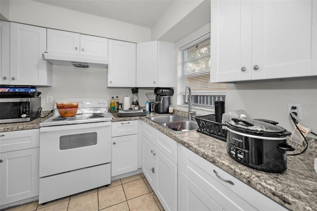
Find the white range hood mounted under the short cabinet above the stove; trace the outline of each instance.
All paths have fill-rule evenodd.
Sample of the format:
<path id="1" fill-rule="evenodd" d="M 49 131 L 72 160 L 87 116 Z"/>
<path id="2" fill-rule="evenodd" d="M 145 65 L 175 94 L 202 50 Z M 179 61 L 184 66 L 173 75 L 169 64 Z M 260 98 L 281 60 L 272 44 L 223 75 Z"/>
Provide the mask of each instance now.
<path id="1" fill-rule="evenodd" d="M 60 52 L 44 52 L 43 59 L 47 60 L 53 65 L 75 66 L 75 67 L 92 67 L 103 68 L 108 67 L 108 58 L 102 56 L 81 55 L 73 53 Z"/>

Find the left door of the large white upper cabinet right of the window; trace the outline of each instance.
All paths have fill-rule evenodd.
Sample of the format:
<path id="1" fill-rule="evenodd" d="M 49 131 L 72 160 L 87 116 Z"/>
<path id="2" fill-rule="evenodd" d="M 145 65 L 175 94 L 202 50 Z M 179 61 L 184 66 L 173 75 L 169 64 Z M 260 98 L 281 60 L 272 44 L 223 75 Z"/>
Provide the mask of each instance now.
<path id="1" fill-rule="evenodd" d="M 211 1 L 211 83 L 251 80 L 251 6 Z"/>

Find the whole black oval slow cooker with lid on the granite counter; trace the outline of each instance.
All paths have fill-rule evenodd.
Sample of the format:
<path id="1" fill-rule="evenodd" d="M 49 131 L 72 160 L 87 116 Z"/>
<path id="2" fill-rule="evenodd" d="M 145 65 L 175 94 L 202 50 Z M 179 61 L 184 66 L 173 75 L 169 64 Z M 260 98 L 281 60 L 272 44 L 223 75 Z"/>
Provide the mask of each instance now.
<path id="1" fill-rule="evenodd" d="M 227 152 L 234 160 L 252 168 L 272 173 L 287 169 L 287 151 L 295 149 L 286 143 L 290 132 L 255 119 L 236 119 L 226 123 Z"/>

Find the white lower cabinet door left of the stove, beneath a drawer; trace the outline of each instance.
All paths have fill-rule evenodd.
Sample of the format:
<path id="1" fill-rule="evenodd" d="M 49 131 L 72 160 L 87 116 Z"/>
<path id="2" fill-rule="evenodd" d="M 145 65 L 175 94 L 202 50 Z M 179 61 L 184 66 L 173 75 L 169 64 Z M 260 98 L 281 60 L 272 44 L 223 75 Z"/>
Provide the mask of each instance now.
<path id="1" fill-rule="evenodd" d="M 0 154 L 0 205 L 38 195 L 39 148 Z"/>

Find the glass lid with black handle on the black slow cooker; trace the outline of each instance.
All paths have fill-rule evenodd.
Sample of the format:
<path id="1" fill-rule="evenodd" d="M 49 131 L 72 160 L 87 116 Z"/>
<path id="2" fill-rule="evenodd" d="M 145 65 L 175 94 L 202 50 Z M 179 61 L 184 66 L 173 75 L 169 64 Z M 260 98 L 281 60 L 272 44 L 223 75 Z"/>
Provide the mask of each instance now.
<path id="1" fill-rule="evenodd" d="M 232 118 L 227 124 L 242 130 L 251 130 L 264 133 L 282 133 L 285 131 L 285 129 L 280 126 L 254 119 Z"/>

